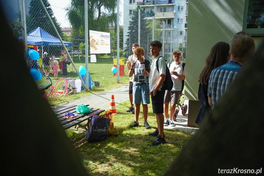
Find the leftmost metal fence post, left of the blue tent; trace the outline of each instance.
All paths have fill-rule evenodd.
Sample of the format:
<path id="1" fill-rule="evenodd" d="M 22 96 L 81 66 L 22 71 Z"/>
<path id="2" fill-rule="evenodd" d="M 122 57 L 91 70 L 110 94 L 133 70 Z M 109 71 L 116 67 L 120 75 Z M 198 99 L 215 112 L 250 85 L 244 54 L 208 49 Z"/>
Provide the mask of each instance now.
<path id="1" fill-rule="evenodd" d="M 25 43 L 25 54 L 24 59 L 28 66 L 28 40 L 27 40 L 27 24 L 26 24 L 26 12 L 25 12 L 25 0 L 20 0 L 20 14 L 21 14 L 21 25 L 22 25 L 22 38 Z"/>

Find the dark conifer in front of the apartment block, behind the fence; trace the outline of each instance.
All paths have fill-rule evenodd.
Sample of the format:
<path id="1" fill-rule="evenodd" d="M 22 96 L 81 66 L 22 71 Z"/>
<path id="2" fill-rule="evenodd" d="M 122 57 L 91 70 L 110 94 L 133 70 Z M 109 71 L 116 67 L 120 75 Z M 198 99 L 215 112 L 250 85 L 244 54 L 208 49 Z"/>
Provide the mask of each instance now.
<path id="1" fill-rule="evenodd" d="M 129 37 L 130 37 L 130 45 L 132 43 L 138 43 L 138 13 L 140 9 L 140 45 L 141 47 L 148 47 L 147 43 L 147 35 L 151 34 L 151 28 L 148 26 L 148 21 L 145 19 L 145 12 L 142 7 L 138 4 L 136 10 L 133 10 L 133 16 L 131 18 L 131 25 L 128 27 L 128 38 L 126 40 L 127 47 L 129 46 Z"/>

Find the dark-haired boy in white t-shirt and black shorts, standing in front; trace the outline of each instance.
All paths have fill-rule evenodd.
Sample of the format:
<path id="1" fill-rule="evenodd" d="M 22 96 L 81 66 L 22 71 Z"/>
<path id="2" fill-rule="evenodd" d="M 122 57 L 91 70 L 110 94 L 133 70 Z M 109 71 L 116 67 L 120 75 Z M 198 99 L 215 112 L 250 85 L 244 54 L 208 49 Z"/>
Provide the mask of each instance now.
<path id="1" fill-rule="evenodd" d="M 149 136 L 156 136 L 157 138 L 151 143 L 152 145 L 159 145 L 165 143 L 163 133 L 163 99 L 165 94 L 165 88 L 162 86 L 166 76 L 166 62 L 165 59 L 159 54 L 162 49 L 162 43 L 160 41 L 153 41 L 150 43 L 151 55 L 154 59 L 151 64 L 151 71 L 148 73 L 144 71 L 145 76 L 149 76 L 149 88 L 152 101 L 153 113 L 156 114 L 158 128 L 153 133 L 149 133 Z M 156 63 L 158 60 L 158 64 Z M 158 65 L 158 69 L 157 69 Z"/>

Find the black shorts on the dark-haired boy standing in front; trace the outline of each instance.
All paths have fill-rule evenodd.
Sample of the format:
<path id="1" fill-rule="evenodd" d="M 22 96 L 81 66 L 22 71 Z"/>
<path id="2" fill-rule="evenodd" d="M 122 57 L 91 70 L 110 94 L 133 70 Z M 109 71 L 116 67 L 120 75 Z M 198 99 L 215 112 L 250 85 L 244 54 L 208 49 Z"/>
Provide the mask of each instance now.
<path id="1" fill-rule="evenodd" d="M 153 113 L 163 114 L 164 95 L 165 95 L 165 89 L 163 87 L 156 92 L 155 96 L 153 96 L 153 91 L 151 92 L 151 102 L 152 102 Z"/>

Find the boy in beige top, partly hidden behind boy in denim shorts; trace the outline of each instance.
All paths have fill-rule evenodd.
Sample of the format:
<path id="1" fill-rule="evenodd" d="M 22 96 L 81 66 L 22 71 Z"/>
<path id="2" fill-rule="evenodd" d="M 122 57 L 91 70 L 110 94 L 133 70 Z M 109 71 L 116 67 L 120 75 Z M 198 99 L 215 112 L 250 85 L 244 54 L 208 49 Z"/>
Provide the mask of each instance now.
<path id="1" fill-rule="evenodd" d="M 126 62 L 126 66 L 128 67 L 129 70 L 131 68 L 131 63 L 136 60 L 136 55 L 134 54 L 134 50 L 137 47 L 139 47 L 138 43 L 134 43 L 132 45 L 133 54 L 128 57 L 128 60 Z M 144 56 L 143 56 L 143 58 L 144 58 Z M 135 107 L 134 107 L 134 104 L 133 104 L 133 81 L 134 81 L 134 75 L 132 75 L 132 77 L 130 77 L 130 80 L 129 80 L 129 92 L 128 92 L 128 94 L 129 94 L 129 101 L 130 101 L 131 107 L 126 112 L 132 112 L 132 114 L 135 114 Z"/>

